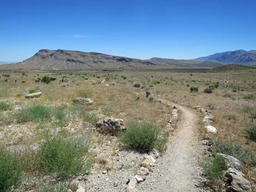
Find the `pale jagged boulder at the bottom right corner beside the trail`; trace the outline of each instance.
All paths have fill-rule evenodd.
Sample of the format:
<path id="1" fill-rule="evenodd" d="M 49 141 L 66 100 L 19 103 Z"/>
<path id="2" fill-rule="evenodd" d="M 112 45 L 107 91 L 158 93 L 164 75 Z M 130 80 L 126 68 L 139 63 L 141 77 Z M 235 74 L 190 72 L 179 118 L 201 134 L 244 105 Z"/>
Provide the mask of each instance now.
<path id="1" fill-rule="evenodd" d="M 251 184 L 241 175 L 228 173 L 228 181 L 226 184 L 228 192 L 251 192 Z"/>

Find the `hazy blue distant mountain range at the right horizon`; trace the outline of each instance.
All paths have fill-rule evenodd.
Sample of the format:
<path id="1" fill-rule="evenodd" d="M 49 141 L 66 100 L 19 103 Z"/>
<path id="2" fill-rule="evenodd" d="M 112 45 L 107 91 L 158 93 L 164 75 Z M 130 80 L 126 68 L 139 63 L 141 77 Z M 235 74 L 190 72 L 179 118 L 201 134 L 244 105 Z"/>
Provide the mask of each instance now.
<path id="1" fill-rule="evenodd" d="M 215 53 L 206 57 L 199 57 L 193 60 L 213 61 L 222 64 L 240 64 L 247 66 L 256 66 L 256 51 L 227 51 L 223 53 Z"/>

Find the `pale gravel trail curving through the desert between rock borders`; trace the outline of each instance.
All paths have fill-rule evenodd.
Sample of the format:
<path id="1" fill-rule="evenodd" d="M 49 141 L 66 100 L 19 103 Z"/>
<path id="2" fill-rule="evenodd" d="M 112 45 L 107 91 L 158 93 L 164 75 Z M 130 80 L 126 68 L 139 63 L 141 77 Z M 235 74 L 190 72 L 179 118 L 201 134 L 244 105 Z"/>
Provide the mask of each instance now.
<path id="1" fill-rule="evenodd" d="M 198 117 L 191 109 L 177 107 L 181 110 L 181 120 L 170 137 L 167 152 L 157 159 L 146 181 L 138 185 L 138 191 L 208 191 L 200 187 L 203 178 L 198 158 L 203 146 L 197 141 Z"/>

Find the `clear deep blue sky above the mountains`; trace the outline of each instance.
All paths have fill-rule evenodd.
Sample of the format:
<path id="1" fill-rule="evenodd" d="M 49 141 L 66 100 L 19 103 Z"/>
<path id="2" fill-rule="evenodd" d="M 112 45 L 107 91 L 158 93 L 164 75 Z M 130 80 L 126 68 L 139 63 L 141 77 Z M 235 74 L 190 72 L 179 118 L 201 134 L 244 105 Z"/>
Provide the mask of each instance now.
<path id="1" fill-rule="evenodd" d="M 1 0 L 0 61 L 39 49 L 191 59 L 256 49 L 256 1 Z"/>

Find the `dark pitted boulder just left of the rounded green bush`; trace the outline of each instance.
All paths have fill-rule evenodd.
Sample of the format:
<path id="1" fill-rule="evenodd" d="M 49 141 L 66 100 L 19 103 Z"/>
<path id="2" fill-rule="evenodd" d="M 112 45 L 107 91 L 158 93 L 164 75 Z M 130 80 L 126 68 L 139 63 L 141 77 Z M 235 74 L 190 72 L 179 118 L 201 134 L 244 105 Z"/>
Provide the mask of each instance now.
<path id="1" fill-rule="evenodd" d="M 95 128 L 100 133 L 117 135 L 120 131 L 125 130 L 124 120 L 107 117 L 106 119 L 99 120 Z"/>

